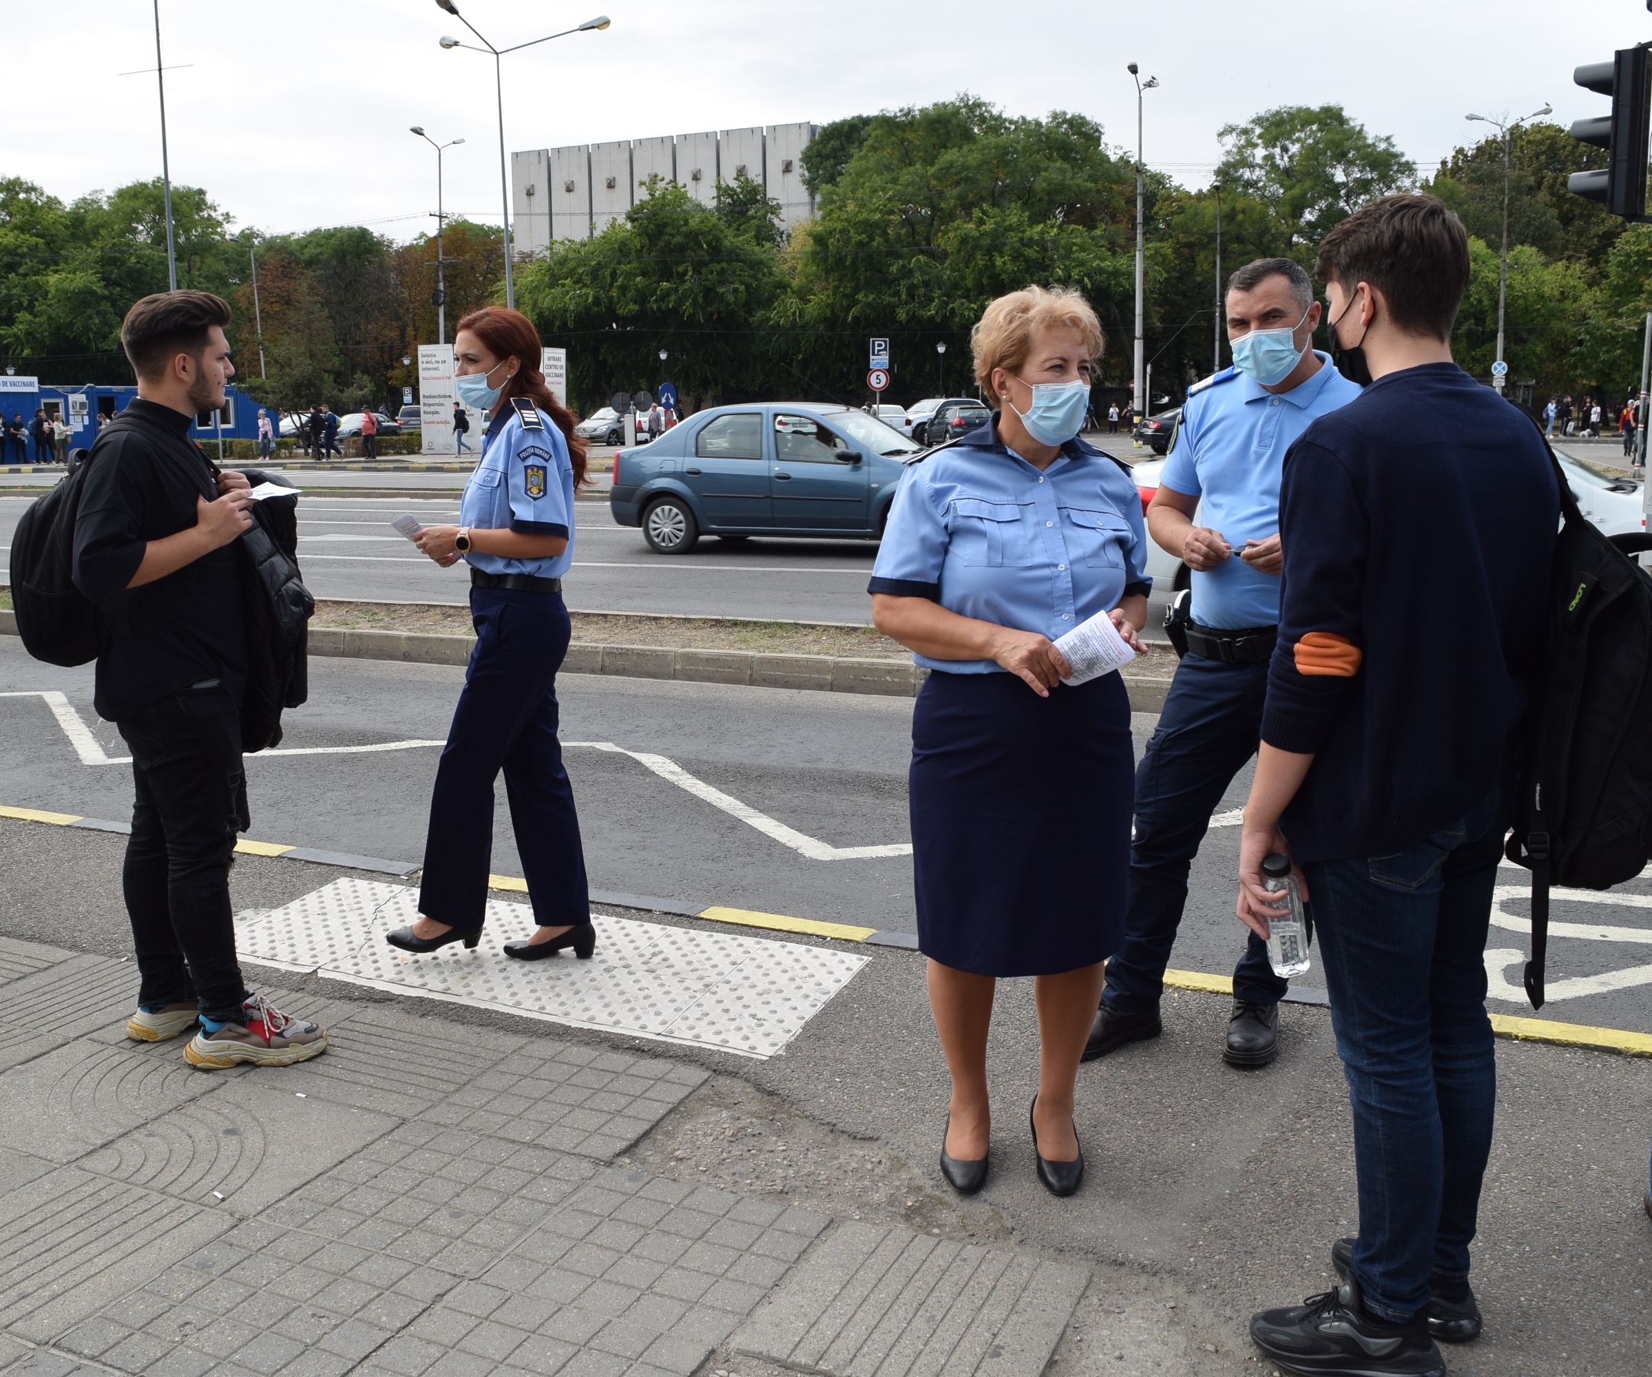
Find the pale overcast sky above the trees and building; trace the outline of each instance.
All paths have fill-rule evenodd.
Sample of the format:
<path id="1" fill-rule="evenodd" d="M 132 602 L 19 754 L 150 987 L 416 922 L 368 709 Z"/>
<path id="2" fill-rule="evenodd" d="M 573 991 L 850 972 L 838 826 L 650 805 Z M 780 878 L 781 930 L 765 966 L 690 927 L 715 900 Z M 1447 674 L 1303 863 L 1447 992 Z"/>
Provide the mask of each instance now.
<path id="1" fill-rule="evenodd" d="M 1125 63 L 1146 94 L 1146 160 L 1201 185 L 1216 130 L 1279 104 L 1340 102 L 1427 172 L 1485 125 L 1553 102 L 1604 114 L 1578 63 L 1652 38 L 1640 0 L 459 0 L 499 46 L 606 5 L 613 26 L 504 59 L 506 144 L 542 149 L 702 129 L 824 124 L 970 91 L 1011 114 L 1069 109 L 1135 142 Z M 71 200 L 160 172 L 150 0 L 7 3 L 0 175 Z M 862 18 L 864 15 L 864 18 Z M 499 220 L 492 61 L 434 0 L 160 0 L 172 177 L 266 231 L 431 226 L 434 154 L 464 137 L 446 205 Z"/>

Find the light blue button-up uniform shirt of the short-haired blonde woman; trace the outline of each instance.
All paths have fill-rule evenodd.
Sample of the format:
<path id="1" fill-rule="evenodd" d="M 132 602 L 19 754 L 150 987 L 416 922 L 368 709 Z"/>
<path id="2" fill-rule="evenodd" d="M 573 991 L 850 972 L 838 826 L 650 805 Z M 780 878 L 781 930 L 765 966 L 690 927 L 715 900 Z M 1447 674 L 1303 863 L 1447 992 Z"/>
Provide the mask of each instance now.
<path id="1" fill-rule="evenodd" d="M 958 616 L 1051 641 L 1146 593 L 1142 495 L 1125 471 L 1070 439 L 1042 472 L 998 439 L 998 418 L 907 466 L 867 593 L 930 598 Z M 915 664 L 1004 672 L 993 660 Z"/>

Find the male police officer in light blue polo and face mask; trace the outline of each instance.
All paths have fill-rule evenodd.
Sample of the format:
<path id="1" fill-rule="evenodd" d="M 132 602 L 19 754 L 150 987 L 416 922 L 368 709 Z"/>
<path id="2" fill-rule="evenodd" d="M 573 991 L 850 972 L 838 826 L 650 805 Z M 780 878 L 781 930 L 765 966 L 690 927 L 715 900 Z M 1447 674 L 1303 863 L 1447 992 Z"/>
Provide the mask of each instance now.
<path id="1" fill-rule="evenodd" d="M 1165 964 L 1188 901 L 1188 868 L 1211 812 L 1256 755 L 1267 662 L 1279 622 L 1279 482 L 1285 451 L 1360 388 L 1310 348 L 1320 324 L 1308 274 L 1264 258 L 1227 279 L 1234 367 L 1191 388 L 1148 533 L 1193 570 L 1188 654 L 1137 768 L 1125 944 L 1107 963 L 1084 1060 L 1158 1037 Z M 1199 513 L 1206 525 L 1194 525 Z M 1224 1060 L 1265 1067 L 1279 1053 L 1279 1001 L 1267 944 L 1251 936 L 1234 969 Z"/>

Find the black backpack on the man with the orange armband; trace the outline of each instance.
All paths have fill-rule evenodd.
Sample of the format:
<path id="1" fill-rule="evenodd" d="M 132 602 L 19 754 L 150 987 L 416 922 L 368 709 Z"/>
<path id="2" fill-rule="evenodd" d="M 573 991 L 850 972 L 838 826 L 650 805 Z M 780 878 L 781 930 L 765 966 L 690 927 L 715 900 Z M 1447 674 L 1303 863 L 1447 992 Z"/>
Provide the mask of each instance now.
<path id="1" fill-rule="evenodd" d="M 1621 885 L 1645 868 L 1652 845 L 1652 578 L 1631 558 L 1652 538 L 1602 533 L 1578 510 L 1548 439 L 1543 447 L 1563 525 L 1507 847 L 1531 870 L 1533 1009 L 1543 1007 L 1550 885 Z"/>

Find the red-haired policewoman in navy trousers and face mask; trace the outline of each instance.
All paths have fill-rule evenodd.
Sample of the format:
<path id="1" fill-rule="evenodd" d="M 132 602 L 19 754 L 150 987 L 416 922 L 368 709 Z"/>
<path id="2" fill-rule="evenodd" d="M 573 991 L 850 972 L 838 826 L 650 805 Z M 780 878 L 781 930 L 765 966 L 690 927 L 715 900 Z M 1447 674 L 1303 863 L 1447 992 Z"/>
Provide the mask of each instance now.
<path id="1" fill-rule="evenodd" d="M 506 956 L 539 961 L 596 946 L 585 852 L 557 741 L 557 670 L 568 651 L 562 575 L 573 560 L 573 492 L 585 444 L 539 371 L 534 322 L 484 307 L 454 332 L 454 386 L 491 409 L 482 457 L 464 487 L 458 527 L 425 527 L 418 548 L 448 568 L 471 566 L 476 649 L 436 769 L 425 842 L 420 920 L 388 935 L 403 951 L 476 946 L 487 906 L 494 779 L 506 773 L 510 826 L 539 930 Z"/>

